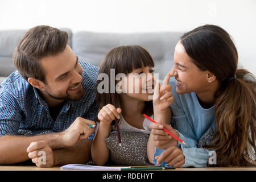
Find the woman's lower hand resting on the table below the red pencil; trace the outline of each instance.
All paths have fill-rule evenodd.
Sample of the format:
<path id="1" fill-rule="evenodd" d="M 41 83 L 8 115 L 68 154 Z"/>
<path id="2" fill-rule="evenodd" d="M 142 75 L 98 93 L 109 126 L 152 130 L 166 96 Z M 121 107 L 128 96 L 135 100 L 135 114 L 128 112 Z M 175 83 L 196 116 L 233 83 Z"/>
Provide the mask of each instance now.
<path id="1" fill-rule="evenodd" d="M 159 165 L 166 162 L 169 166 L 179 168 L 185 164 L 185 156 L 179 147 L 171 146 L 167 148 L 162 154 L 155 157 L 156 164 Z"/>

